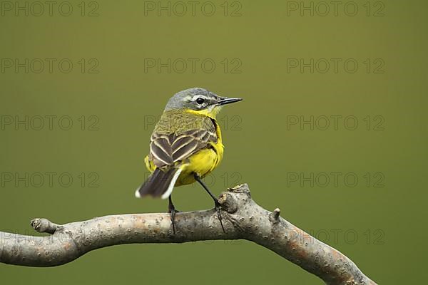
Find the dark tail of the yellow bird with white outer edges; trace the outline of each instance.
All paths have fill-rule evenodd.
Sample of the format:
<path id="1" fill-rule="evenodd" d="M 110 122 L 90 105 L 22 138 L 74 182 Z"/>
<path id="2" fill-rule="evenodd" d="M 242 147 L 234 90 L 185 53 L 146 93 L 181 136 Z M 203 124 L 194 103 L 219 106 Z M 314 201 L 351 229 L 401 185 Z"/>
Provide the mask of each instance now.
<path id="1" fill-rule="evenodd" d="M 180 175 L 180 168 L 170 168 L 163 171 L 156 168 L 155 171 L 148 177 L 146 182 L 136 190 L 136 197 L 141 198 L 147 195 L 153 197 L 161 197 L 166 199 L 173 192 L 175 182 Z"/>

